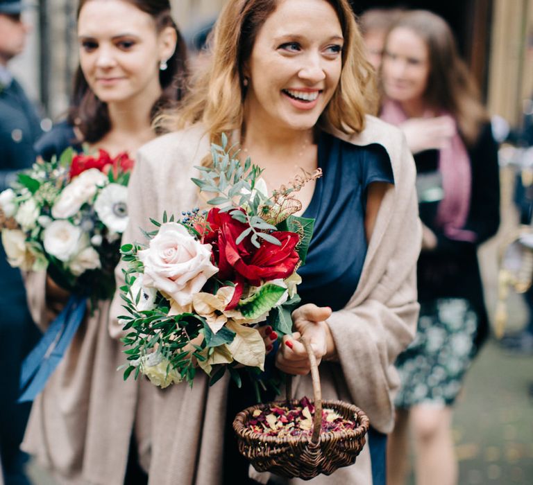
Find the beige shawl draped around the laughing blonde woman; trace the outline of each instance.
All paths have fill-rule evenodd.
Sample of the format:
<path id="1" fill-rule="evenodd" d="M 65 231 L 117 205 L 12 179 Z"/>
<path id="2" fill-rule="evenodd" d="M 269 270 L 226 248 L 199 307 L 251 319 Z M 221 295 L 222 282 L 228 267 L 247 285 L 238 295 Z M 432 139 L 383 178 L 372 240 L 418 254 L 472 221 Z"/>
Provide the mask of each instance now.
<path id="1" fill-rule="evenodd" d="M 355 145 L 383 145 L 394 174 L 394 188 L 382 200 L 357 291 L 346 308 L 329 319 L 340 364 L 324 362 L 320 369 L 325 399 L 355 403 L 377 430 L 387 433 L 393 427 L 392 394 L 398 387 L 394 360 L 414 337 L 418 316 L 421 226 L 415 168 L 400 131 L 377 118 L 369 116 L 366 129 L 355 136 L 328 131 Z M 128 191 L 130 223 L 124 243 L 144 242 L 140 228 L 150 227 L 149 218 L 160 220 L 163 211 L 179 215 L 198 205 L 198 191 L 190 179 L 196 175 L 193 166 L 200 165 L 208 149 L 203 128 L 195 126 L 161 136 L 139 150 Z M 119 287 L 120 266 L 117 280 Z M 115 295 L 110 310 L 110 332 L 115 337 L 121 334 L 116 317 L 123 313 Z M 312 396 L 310 378 L 297 381 L 296 396 Z M 227 383 L 222 380 L 210 388 L 198 376 L 192 389 L 185 384 L 153 388 L 151 485 L 221 484 Z M 366 446 L 354 466 L 312 483 L 369 485 L 370 467 Z"/>

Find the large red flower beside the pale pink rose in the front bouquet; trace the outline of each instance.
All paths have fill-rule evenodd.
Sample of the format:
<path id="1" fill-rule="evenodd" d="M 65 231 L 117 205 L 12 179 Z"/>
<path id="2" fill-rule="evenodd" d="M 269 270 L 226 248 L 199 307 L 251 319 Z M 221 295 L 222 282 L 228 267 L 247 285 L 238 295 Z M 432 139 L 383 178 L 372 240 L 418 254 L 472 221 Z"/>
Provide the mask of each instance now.
<path id="1" fill-rule="evenodd" d="M 218 208 L 211 209 L 208 222 L 210 232 L 205 236 L 205 243 L 210 243 L 213 247 L 214 262 L 219 267 L 218 278 L 235 283 L 246 281 L 257 286 L 261 281 L 284 279 L 294 272 L 299 261 L 295 249 L 300 240 L 298 234 L 276 231 L 272 236 L 280 241 L 280 246 L 263 240 L 260 247 L 255 247 L 251 243 L 251 236 L 236 243 L 248 224 L 233 219 L 230 214 L 221 212 Z M 238 288 L 239 286 L 237 284 L 235 293 L 239 291 L 240 297 L 242 288 Z"/>

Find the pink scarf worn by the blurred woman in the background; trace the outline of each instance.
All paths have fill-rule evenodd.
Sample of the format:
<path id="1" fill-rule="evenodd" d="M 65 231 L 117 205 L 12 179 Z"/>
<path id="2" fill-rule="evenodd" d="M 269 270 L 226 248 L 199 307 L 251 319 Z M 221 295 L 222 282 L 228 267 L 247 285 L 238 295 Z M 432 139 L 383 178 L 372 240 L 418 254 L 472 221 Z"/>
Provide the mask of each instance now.
<path id="1" fill-rule="evenodd" d="M 442 174 L 444 198 L 439 203 L 435 222 L 448 238 L 473 243 L 476 238 L 475 233 L 463 229 L 470 210 L 472 184 L 470 159 L 466 146 L 457 132 L 455 120 L 446 112 L 443 112 L 442 116 L 448 116 L 456 130 L 450 144 L 439 150 L 439 171 Z M 424 116 L 424 118 L 429 117 Z M 380 118 L 397 126 L 408 119 L 400 105 L 391 100 L 384 102 Z"/>

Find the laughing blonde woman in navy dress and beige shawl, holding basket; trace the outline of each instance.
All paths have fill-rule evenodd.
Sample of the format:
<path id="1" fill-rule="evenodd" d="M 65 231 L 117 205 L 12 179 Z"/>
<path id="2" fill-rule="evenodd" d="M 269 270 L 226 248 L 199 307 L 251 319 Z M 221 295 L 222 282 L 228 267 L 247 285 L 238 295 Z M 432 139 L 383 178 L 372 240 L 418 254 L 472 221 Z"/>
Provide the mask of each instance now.
<path id="1" fill-rule="evenodd" d="M 229 0 L 204 67 L 183 109 L 166 120 L 175 131 L 137 153 L 123 241 L 143 243 L 139 228 L 165 210 L 201 205 L 190 178 L 198 177 L 194 166 L 211 163 L 210 142 L 220 143 L 222 133 L 264 168 L 269 191 L 301 169 L 322 168 L 323 177 L 298 192 L 298 214 L 314 218 L 315 231 L 299 270 L 303 304 L 292 314 L 294 333 L 271 358 L 298 374 L 298 397 L 312 396 L 303 335 L 321 362 L 323 398 L 355 403 L 373 426 L 354 466 L 312 483 L 384 484 L 393 362 L 418 315 L 420 225 L 404 139 L 367 114 L 373 76 L 348 0 Z M 120 286 L 120 265 L 115 274 Z M 110 311 L 117 336 L 123 312 L 117 292 Z M 263 331 L 274 352 L 278 336 Z M 242 389 L 226 378 L 209 387 L 198 374 L 192 389 L 154 387 L 151 483 L 299 483 L 257 474 L 237 452 L 232 419 L 254 399 L 246 379 Z"/>

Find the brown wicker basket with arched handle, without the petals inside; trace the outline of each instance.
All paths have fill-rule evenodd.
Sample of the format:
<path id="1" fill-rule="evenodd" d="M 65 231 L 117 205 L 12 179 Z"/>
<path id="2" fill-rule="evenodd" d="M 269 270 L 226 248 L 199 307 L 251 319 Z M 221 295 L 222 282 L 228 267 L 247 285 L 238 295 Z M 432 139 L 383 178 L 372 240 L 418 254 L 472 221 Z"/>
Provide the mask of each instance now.
<path id="1" fill-rule="evenodd" d="M 309 480 L 321 473 L 331 475 L 337 468 L 354 464 L 364 446 L 370 422 L 366 414 L 355 405 L 339 400 L 322 401 L 319 369 L 314 353 L 304 339 L 301 342 L 305 345 L 311 363 L 315 406 L 312 436 L 265 436 L 246 426 L 255 409 L 265 410 L 274 404 L 298 403 L 298 400 L 290 399 L 290 378 L 287 382 L 287 400 L 244 409 L 235 416 L 233 429 L 237 433 L 239 452 L 251 461 L 257 471 Z M 355 420 L 357 427 L 354 430 L 321 433 L 322 407 L 333 409 L 345 419 Z"/>

